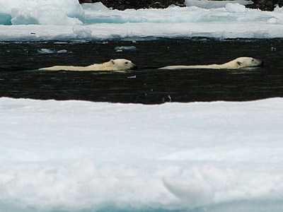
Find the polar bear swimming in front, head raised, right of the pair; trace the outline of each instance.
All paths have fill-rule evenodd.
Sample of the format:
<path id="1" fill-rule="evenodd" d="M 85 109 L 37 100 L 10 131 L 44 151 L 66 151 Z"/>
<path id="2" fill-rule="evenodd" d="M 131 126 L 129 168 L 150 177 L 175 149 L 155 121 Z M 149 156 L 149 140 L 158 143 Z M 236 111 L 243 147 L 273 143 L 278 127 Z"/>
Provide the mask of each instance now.
<path id="1" fill-rule="evenodd" d="M 262 66 L 263 62 L 260 59 L 253 57 L 238 57 L 226 64 L 210 64 L 210 65 L 195 65 L 195 66 L 165 66 L 159 69 L 241 69 L 249 67 Z"/>

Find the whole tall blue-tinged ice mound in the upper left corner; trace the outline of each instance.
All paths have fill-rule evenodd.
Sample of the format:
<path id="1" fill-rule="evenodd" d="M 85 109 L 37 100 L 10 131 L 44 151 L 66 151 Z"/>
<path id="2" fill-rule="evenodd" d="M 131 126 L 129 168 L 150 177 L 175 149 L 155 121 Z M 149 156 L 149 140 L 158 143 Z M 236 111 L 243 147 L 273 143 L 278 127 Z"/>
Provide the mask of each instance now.
<path id="1" fill-rule="evenodd" d="M 0 24 L 77 25 L 85 13 L 77 0 L 0 0 Z"/>

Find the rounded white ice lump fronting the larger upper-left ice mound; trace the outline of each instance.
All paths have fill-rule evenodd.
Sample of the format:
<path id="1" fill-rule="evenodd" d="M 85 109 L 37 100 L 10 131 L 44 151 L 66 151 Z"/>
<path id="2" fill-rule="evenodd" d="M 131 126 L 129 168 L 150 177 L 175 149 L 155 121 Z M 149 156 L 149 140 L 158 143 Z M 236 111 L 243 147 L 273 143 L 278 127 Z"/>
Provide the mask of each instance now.
<path id="1" fill-rule="evenodd" d="M 36 8 L 12 8 L 11 23 L 13 25 L 82 25 L 78 18 L 69 18 L 64 11 L 54 6 L 38 6 Z"/>

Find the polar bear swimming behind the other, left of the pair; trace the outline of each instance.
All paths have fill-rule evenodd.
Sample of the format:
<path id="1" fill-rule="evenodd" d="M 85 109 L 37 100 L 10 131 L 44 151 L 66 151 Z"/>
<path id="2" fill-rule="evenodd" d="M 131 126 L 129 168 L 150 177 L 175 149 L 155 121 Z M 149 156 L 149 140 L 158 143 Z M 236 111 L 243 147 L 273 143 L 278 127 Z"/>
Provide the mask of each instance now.
<path id="1" fill-rule="evenodd" d="M 39 70 L 46 71 L 127 71 L 137 69 L 137 66 L 127 59 L 111 59 L 103 64 L 90 66 L 51 66 Z"/>

